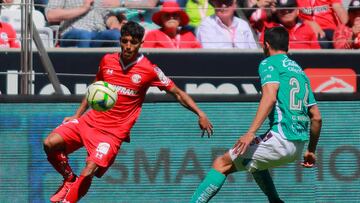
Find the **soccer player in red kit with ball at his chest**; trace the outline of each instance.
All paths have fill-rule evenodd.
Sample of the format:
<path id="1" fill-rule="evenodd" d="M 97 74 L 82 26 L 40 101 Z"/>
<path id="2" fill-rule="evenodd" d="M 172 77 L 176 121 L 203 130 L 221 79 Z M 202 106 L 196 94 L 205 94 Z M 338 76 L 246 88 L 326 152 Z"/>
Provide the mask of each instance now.
<path id="1" fill-rule="evenodd" d="M 203 133 L 213 133 L 213 126 L 184 91 L 165 76 L 159 67 L 139 54 L 144 28 L 128 22 L 121 29 L 120 53 L 105 55 L 96 80 L 114 85 L 118 91 L 115 106 L 106 112 L 87 111 L 84 99 L 75 115 L 66 117 L 44 140 L 48 161 L 64 177 L 64 182 L 51 197 L 52 202 L 77 202 L 83 197 L 93 176 L 101 177 L 114 162 L 122 142 L 129 142 L 130 129 L 135 124 L 150 86 L 171 93 L 186 108 L 199 116 Z M 86 166 L 80 176 L 72 171 L 67 155 L 85 147 Z"/>

